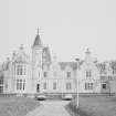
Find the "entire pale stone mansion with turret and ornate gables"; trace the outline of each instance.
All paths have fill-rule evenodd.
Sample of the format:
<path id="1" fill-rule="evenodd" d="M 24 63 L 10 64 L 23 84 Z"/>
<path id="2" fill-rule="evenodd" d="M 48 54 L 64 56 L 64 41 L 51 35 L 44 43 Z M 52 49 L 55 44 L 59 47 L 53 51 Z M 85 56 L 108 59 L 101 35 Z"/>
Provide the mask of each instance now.
<path id="1" fill-rule="evenodd" d="M 116 93 L 116 63 L 98 63 L 87 49 L 78 62 L 59 62 L 41 42 L 39 30 L 27 54 L 21 45 L 1 65 L 0 93 L 17 95 L 64 95 L 77 93 Z M 78 80 L 78 83 L 77 83 Z"/>

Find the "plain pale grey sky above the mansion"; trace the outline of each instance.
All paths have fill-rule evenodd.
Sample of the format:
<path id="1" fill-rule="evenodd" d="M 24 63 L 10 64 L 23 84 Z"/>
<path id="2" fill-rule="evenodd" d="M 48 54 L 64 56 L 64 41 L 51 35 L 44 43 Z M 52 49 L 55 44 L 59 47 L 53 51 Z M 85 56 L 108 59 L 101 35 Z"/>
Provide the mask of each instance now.
<path id="1" fill-rule="evenodd" d="M 0 0 L 0 61 L 23 44 L 27 53 L 40 29 L 59 61 L 116 60 L 116 0 Z"/>

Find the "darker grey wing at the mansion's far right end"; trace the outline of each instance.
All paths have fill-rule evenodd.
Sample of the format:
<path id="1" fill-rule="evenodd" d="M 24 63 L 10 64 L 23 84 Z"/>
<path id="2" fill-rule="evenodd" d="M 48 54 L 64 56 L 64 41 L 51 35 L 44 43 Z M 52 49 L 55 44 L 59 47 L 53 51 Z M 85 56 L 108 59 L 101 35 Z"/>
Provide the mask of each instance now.
<path id="1" fill-rule="evenodd" d="M 116 93 L 116 61 L 108 61 L 98 64 L 101 72 L 101 93 Z"/>

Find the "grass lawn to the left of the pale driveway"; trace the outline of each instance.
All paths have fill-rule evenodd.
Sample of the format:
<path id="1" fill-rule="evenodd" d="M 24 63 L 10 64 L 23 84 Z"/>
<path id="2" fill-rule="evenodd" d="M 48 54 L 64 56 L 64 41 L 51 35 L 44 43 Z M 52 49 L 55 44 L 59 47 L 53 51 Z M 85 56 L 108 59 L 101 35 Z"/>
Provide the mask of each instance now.
<path id="1" fill-rule="evenodd" d="M 25 116 L 39 105 L 38 101 L 28 97 L 0 96 L 0 116 Z"/>

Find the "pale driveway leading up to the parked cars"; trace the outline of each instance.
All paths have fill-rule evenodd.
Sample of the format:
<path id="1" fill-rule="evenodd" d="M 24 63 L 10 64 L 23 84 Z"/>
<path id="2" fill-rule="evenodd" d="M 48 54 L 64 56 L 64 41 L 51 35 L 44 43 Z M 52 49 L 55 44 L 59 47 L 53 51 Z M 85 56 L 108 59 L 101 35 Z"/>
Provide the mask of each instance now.
<path id="1" fill-rule="evenodd" d="M 67 101 L 43 101 L 41 104 L 31 116 L 70 116 L 64 107 L 68 104 Z"/>

